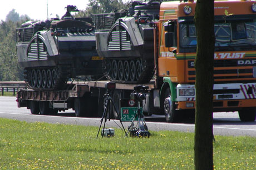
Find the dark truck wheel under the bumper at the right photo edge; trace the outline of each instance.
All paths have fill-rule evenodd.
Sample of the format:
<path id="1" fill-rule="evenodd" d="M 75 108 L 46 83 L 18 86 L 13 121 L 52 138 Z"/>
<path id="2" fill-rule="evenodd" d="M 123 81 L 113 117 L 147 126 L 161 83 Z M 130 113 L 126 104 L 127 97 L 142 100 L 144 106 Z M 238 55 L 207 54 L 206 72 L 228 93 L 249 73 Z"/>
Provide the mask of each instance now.
<path id="1" fill-rule="evenodd" d="M 254 122 L 256 117 L 256 108 L 243 108 L 241 111 L 238 112 L 238 114 L 242 122 Z"/>

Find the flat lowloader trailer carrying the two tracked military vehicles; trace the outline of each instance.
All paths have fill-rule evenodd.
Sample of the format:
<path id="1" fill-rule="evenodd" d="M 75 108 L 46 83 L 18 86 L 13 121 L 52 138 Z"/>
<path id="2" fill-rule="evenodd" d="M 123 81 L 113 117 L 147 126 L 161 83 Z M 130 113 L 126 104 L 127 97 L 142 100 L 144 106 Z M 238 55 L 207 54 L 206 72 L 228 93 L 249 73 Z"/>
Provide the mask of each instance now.
<path id="1" fill-rule="evenodd" d="M 83 83 L 68 83 L 66 90 L 36 90 L 24 88 L 17 93 L 18 107 L 27 107 L 31 114 L 55 115 L 58 111 L 73 109 L 76 117 L 99 117 L 104 112 L 105 85 L 109 81 L 90 81 Z M 118 84 L 112 93 L 112 98 L 120 110 L 120 99 L 130 98 L 136 84 Z M 154 82 L 146 84 L 149 91 L 155 88 Z M 113 109 L 114 111 L 114 109 Z M 117 113 L 114 111 L 114 117 Z"/>

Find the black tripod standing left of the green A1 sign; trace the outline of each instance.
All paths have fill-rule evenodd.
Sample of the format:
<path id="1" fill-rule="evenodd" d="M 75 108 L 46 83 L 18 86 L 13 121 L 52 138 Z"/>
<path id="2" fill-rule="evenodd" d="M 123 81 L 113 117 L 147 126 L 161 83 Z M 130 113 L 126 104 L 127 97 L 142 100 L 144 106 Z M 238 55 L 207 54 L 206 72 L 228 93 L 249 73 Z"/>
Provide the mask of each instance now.
<path id="1" fill-rule="evenodd" d="M 101 128 L 101 125 L 102 125 L 102 122 L 103 122 L 103 120 L 105 119 L 105 121 L 104 121 L 104 126 L 103 126 L 103 128 L 102 128 L 102 133 L 101 133 L 101 137 L 104 137 L 104 133 L 105 133 L 105 124 L 106 124 L 106 122 L 107 122 L 107 116 L 109 116 L 109 120 L 110 120 L 110 118 L 111 118 L 111 114 L 110 114 L 110 111 L 111 111 L 111 106 L 113 106 L 114 107 L 114 109 L 115 109 L 115 111 L 116 111 L 116 113 L 117 113 L 117 117 L 119 118 L 119 121 L 120 121 L 120 123 L 121 123 L 121 125 L 122 125 L 122 128 L 124 129 L 124 132 L 125 132 L 125 136 L 127 136 L 127 133 L 126 133 L 126 131 L 125 131 L 125 128 L 124 128 L 124 125 L 122 124 L 122 121 L 121 121 L 121 118 L 120 118 L 120 114 L 119 114 L 119 112 L 117 112 L 117 109 L 116 109 L 116 106 L 115 106 L 115 103 L 112 101 L 112 97 L 111 97 L 111 93 L 106 93 L 106 94 L 104 94 L 104 99 L 106 99 L 106 106 L 104 106 L 104 112 L 103 112 L 103 114 L 102 114 L 102 118 L 101 118 L 101 120 L 100 120 L 100 127 L 99 127 L 99 131 L 98 131 L 98 133 L 97 133 L 97 137 L 96 138 L 98 138 L 98 136 L 99 136 L 99 133 L 100 133 L 100 128 Z"/>

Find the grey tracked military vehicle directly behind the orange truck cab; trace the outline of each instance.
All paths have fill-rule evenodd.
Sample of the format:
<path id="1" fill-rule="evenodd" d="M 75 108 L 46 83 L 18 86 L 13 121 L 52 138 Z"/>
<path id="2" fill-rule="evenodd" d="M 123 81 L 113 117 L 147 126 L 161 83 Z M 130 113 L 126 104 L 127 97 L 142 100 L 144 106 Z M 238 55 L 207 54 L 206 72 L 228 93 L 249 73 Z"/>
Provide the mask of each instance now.
<path id="1" fill-rule="evenodd" d="M 96 48 L 112 82 L 142 84 L 154 74 L 154 28 L 161 1 L 131 1 L 128 11 L 95 14 Z"/>

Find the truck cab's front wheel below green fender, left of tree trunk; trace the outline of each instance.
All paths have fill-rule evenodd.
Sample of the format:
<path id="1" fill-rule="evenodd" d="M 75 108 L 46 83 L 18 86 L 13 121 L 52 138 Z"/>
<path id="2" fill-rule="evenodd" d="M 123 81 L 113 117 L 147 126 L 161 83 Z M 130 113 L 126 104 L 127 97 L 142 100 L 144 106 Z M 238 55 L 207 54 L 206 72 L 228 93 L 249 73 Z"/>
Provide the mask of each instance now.
<path id="1" fill-rule="evenodd" d="M 178 111 L 176 111 L 175 103 L 171 101 L 170 88 L 164 93 L 164 113 L 167 122 L 174 123 L 178 121 Z"/>

